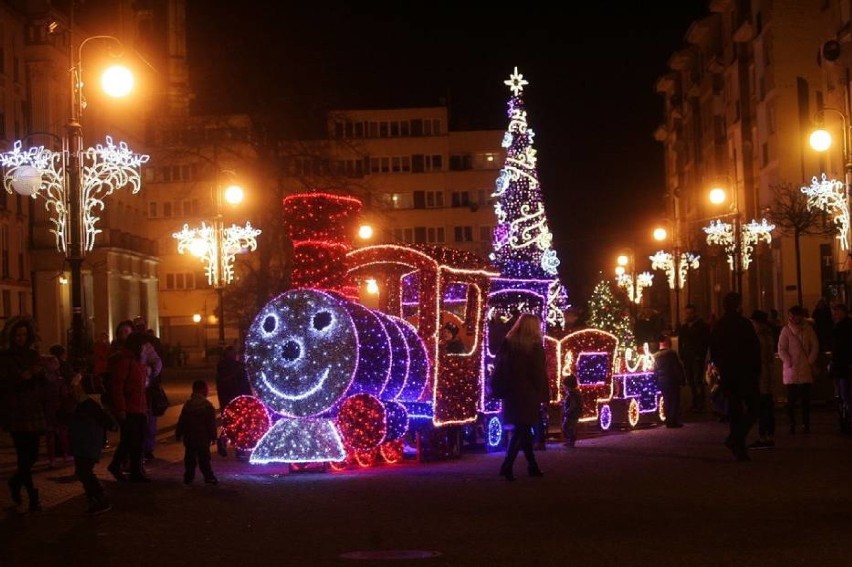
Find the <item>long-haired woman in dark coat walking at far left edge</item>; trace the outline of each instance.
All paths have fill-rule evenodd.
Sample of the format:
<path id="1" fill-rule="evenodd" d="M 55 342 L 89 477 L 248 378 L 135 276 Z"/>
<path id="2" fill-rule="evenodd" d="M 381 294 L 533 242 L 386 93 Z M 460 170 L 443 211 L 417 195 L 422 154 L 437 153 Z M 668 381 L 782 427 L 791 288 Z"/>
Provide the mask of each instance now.
<path id="1" fill-rule="evenodd" d="M 15 443 L 17 468 L 9 491 L 18 512 L 24 512 L 21 489 L 29 497 L 29 511 L 41 510 L 32 468 L 38 460 L 41 437 L 47 430 L 45 378 L 35 350 L 35 327 L 21 319 L 9 326 L 8 348 L 0 356 L 0 422 Z"/>

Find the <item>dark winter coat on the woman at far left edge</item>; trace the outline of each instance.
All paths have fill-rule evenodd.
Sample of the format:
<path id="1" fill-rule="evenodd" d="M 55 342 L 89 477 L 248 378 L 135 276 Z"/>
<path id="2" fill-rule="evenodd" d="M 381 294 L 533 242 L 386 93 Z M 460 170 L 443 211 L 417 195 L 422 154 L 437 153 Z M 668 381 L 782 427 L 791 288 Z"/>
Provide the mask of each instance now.
<path id="1" fill-rule="evenodd" d="M 15 433 L 47 431 L 46 388 L 38 352 L 26 348 L 0 353 L 0 425 Z"/>

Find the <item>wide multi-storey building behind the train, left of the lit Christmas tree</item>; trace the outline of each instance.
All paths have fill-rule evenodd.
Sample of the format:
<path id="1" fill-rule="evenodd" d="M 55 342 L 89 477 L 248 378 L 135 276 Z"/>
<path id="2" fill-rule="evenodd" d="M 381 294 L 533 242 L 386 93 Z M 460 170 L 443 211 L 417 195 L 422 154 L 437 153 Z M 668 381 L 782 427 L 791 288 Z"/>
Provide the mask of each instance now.
<path id="1" fill-rule="evenodd" d="M 436 244 L 487 257 L 502 130 L 450 131 L 446 107 L 343 110 L 328 116 L 329 161 L 364 202 L 373 236 L 356 245 Z M 285 157 L 288 192 L 316 162 Z M 332 188 L 333 189 L 333 188 Z"/>

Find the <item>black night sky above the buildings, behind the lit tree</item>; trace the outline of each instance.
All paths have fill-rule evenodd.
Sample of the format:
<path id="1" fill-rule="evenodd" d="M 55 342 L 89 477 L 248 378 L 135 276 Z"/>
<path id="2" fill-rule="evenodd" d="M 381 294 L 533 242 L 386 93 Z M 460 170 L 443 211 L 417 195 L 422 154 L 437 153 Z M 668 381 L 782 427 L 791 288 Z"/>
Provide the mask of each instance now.
<path id="1" fill-rule="evenodd" d="M 571 301 L 611 275 L 619 248 L 651 246 L 664 216 L 654 85 L 707 1 L 349 4 L 189 0 L 195 109 L 272 112 L 306 138 L 328 110 L 446 102 L 451 128 L 503 130 L 517 66 Z"/>

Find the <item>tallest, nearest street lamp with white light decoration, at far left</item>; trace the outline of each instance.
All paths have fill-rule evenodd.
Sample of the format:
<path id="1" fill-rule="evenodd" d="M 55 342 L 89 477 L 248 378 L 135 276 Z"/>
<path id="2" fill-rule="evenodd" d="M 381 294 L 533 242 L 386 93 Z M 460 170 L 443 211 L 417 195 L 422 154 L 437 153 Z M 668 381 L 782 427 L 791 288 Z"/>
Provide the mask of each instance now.
<path id="1" fill-rule="evenodd" d="M 75 364 L 85 358 L 82 265 L 86 252 L 94 248 L 99 214 L 106 207 L 104 199 L 116 189 L 141 188 L 141 167 L 149 156 L 137 154 L 124 142 L 106 143 L 83 148 L 80 119 L 86 108 L 83 96 L 83 48 L 93 41 L 105 41 L 123 50 L 121 41 L 110 35 L 85 38 L 76 49 L 69 50 L 71 106 L 65 125 L 62 151 L 44 146 L 22 150 L 21 141 L 11 151 L 0 154 L 6 191 L 45 199 L 45 209 L 53 224 L 56 247 L 68 259 L 71 269 L 71 340 L 69 357 Z M 110 67 L 102 76 L 104 90 L 110 96 L 127 95 L 133 86 L 132 74 L 123 67 Z"/>

